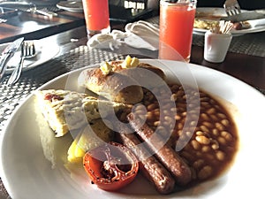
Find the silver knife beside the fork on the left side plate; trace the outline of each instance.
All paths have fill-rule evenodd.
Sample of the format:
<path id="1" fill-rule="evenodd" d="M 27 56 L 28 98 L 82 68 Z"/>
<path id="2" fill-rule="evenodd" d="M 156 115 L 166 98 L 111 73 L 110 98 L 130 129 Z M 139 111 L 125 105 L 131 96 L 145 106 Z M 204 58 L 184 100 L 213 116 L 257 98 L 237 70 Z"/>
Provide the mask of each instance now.
<path id="1" fill-rule="evenodd" d="M 11 42 L 7 47 L 5 47 L 4 51 L 2 52 L 0 58 L 0 80 L 4 76 L 8 61 L 11 59 L 11 57 L 14 56 L 15 52 L 19 49 L 23 41 L 24 37 L 21 37 L 16 41 Z"/>

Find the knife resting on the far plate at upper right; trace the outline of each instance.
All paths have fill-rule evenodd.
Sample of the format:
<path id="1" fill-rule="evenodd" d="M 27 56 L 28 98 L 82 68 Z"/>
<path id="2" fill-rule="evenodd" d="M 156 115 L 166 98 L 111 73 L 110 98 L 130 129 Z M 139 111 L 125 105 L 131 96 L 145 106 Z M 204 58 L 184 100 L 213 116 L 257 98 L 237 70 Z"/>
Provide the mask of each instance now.
<path id="1" fill-rule="evenodd" d="M 231 22 L 239 22 L 254 19 L 265 19 L 265 14 L 258 11 L 244 11 L 236 15 L 228 17 L 222 17 L 221 20 L 227 20 Z"/>

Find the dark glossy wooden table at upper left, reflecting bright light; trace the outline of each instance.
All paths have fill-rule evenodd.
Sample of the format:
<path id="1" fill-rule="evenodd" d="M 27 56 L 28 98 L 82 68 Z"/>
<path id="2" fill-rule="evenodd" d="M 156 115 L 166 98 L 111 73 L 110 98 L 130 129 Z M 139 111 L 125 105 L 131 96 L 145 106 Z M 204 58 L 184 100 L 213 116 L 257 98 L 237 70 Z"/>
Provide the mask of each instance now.
<path id="1" fill-rule="evenodd" d="M 0 43 L 12 42 L 20 36 L 26 40 L 40 39 L 85 24 L 83 12 L 57 11 L 57 16 L 47 18 L 40 14 L 19 11 L 5 23 L 0 23 Z"/>

